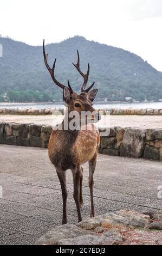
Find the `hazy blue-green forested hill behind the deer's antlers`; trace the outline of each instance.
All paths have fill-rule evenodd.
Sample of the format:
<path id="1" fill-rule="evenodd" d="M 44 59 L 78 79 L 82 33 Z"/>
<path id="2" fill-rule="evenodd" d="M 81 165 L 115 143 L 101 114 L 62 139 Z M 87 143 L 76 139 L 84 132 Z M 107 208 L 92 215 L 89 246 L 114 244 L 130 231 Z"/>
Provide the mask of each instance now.
<path id="1" fill-rule="evenodd" d="M 29 46 L 2 37 L 0 44 L 3 46 L 3 57 L 0 57 L 1 95 L 8 93 L 10 100 L 15 101 L 61 99 L 61 89 L 51 81 L 44 66 L 42 46 Z M 88 41 L 82 36 L 46 46 L 51 65 L 57 57 L 57 80 L 67 84 L 69 79 L 76 92 L 80 92 L 82 84 L 82 77 L 72 65 L 77 60 L 77 49 L 80 52 L 82 70 L 86 72 L 87 62 L 90 64 L 89 83 L 95 81 L 95 88 L 99 88 L 98 99 L 162 99 L 161 72 L 133 53 Z"/>

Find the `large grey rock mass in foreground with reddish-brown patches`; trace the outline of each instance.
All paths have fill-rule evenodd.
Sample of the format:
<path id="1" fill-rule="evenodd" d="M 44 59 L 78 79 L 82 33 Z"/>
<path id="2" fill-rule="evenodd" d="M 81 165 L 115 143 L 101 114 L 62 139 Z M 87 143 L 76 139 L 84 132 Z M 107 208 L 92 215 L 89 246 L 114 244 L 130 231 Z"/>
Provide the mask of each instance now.
<path id="1" fill-rule="evenodd" d="M 161 222 L 161 212 L 152 209 L 109 212 L 51 229 L 36 245 L 162 245 Z"/>

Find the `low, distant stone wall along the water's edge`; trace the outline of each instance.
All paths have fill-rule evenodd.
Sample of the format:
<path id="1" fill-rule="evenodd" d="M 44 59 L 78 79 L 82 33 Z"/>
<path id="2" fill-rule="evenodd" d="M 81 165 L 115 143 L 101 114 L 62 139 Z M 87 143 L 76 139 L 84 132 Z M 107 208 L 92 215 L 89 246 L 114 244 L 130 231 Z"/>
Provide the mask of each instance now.
<path id="1" fill-rule="evenodd" d="M 0 114 L 51 115 L 56 112 L 63 114 L 63 110 L 63 108 L 0 108 Z M 162 115 L 162 109 L 102 108 L 98 110 L 103 113 L 108 110 L 113 115 Z"/>

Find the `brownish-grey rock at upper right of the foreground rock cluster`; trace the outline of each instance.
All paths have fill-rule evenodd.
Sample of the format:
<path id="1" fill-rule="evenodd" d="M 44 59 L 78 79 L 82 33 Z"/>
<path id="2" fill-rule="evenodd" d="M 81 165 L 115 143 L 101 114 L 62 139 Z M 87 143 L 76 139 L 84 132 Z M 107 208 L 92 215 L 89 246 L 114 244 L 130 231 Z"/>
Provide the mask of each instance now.
<path id="1" fill-rule="evenodd" d="M 144 228 L 150 223 L 150 216 L 140 214 L 137 211 L 120 210 L 115 212 L 117 215 L 126 218 L 129 221 L 129 225 L 133 227 Z"/>

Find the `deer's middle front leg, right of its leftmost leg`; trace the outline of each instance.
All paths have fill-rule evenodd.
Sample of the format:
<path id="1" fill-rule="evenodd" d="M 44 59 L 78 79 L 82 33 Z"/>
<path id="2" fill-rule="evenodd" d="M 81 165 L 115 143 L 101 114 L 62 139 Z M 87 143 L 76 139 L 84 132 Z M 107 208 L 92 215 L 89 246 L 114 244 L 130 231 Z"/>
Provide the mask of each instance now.
<path id="1" fill-rule="evenodd" d="M 82 217 L 81 217 L 81 212 L 80 212 L 79 188 L 80 188 L 80 180 L 81 180 L 81 176 L 82 176 L 82 171 L 81 171 L 81 168 L 79 167 L 79 168 L 73 169 L 72 172 L 73 172 L 73 182 L 74 182 L 73 197 L 74 197 L 75 204 L 76 204 L 78 222 L 80 222 L 80 221 L 82 221 Z"/>

